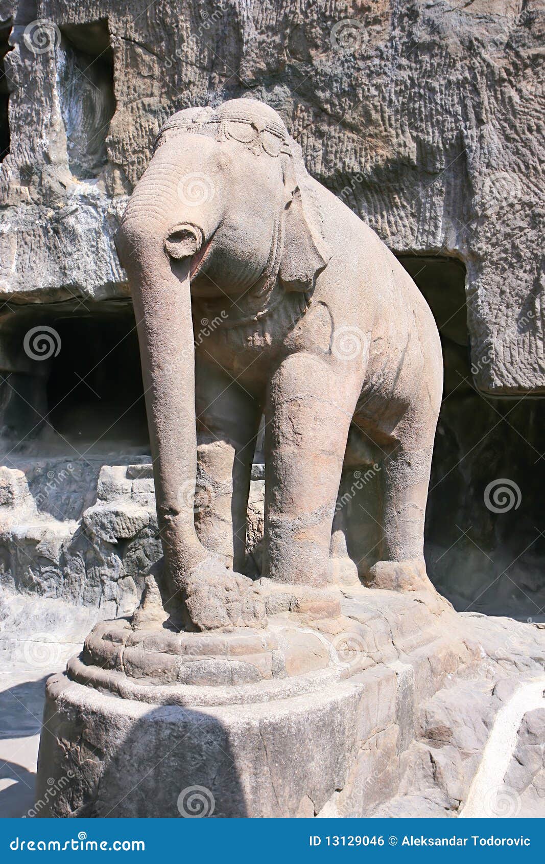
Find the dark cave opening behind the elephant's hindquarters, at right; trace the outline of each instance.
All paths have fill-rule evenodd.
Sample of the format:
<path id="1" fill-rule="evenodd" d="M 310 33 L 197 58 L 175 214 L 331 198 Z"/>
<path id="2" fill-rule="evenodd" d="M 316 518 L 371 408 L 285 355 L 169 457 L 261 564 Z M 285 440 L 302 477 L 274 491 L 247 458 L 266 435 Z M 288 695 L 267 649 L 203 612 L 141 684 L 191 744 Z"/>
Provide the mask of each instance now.
<path id="1" fill-rule="evenodd" d="M 445 366 L 426 515 L 428 575 L 460 611 L 543 619 L 545 402 L 478 392 L 461 262 L 399 258 L 434 313 Z"/>

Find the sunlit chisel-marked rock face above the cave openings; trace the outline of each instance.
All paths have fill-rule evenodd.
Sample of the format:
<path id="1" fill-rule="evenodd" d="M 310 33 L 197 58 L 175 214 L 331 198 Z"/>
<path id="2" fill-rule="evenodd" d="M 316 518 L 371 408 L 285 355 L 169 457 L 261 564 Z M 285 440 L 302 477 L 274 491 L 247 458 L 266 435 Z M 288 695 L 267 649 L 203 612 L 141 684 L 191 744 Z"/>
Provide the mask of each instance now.
<path id="1" fill-rule="evenodd" d="M 543 388 L 542 3 L 230 0 L 211 13 L 192 0 L 144 15 L 138 3 L 42 0 L 37 17 L 64 41 L 38 54 L 39 35 L 23 39 L 31 9 L 0 3 L 0 21 L 16 24 L 4 297 L 124 293 L 112 233 L 160 125 L 251 92 L 392 249 L 465 262 L 480 387 Z M 100 59 L 91 81 L 89 57 Z"/>

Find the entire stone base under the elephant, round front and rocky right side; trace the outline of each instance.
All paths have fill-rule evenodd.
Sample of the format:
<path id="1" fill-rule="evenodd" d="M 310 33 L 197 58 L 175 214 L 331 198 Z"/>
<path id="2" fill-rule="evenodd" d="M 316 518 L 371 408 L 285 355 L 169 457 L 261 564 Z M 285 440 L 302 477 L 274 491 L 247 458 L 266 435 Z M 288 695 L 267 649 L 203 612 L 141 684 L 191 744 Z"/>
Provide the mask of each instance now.
<path id="1" fill-rule="evenodd" d="M 495 717 L 544 658 L 544 630 L 426 592 L 355 588 L 340 616 L 261 632 L 102 624 L 48 681 L 38 812 L 458 816 Z M 535 776 L 520 782 L 534 801 Z"/>

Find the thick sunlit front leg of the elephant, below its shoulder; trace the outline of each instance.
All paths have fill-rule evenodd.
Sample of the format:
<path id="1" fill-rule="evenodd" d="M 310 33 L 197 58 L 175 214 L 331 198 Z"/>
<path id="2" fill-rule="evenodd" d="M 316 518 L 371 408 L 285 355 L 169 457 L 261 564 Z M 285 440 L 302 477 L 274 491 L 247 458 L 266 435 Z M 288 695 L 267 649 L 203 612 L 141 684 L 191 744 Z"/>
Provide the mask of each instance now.
<path id="1" fill-rule="evenodd" d="M 263 576 L 324 586 L 333 512 L 360 382 L 311 355 L 274 375 L 265 411 Z"/>

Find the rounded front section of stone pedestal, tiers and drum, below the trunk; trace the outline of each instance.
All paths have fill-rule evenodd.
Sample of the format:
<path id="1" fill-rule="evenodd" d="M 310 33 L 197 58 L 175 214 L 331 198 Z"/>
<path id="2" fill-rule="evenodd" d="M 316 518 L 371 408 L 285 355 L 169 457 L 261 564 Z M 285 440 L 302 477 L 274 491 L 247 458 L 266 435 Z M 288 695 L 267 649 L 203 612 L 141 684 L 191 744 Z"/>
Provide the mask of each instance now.
<path id="1" fill-rule="evenodd" d="M 99 624 L 48 680 L 37 815 L 280 816 L 278 783 L 291 795 L 293 772 L 309 789 L 324 776 L 329 795 L 345 759 L 346 674 L 328 639 L 288 619 L 220 633 Z M 287 766 L 273 769 L 270 753 Z"/>

